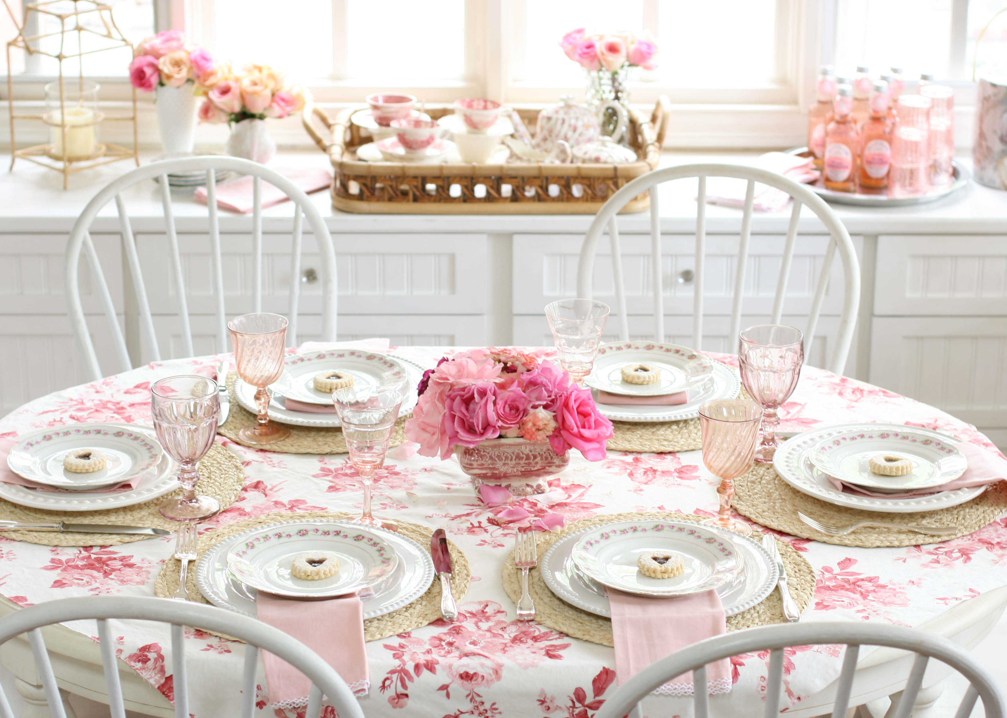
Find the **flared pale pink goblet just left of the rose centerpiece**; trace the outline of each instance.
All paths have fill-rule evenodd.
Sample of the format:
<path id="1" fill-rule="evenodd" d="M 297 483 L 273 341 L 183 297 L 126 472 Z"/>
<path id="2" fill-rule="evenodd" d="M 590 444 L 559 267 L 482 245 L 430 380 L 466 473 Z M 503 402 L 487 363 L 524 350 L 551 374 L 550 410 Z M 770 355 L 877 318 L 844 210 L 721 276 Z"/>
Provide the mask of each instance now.
<path id="1" fill-rule="evenodd" d="M 392 440 L 399 407 L 405 398 L 405 387 L 353 386 L 332 393 L 332 403 L 339 416 L 342 437 L 346 440 L 349 462 L 361 475 L 364 484 L 364 513 L 353 523 L 396 530 L 394 521 L 376 519 L 371 513 L 371 486 L 375 474 L 385 465 L 385 455 Z"/>

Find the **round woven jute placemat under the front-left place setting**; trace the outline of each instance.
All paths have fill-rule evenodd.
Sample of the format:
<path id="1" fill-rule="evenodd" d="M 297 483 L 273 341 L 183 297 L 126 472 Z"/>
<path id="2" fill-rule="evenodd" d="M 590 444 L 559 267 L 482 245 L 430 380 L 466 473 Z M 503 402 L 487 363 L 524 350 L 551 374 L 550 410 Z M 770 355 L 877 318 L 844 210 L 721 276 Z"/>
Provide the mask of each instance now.
<path id="1" fill-rule="evenodd" d="M 254 529 L 259 526 L 282 524 L 287 521 L 311 521 L 312 519 L 342 520 L 348 518 L 352 518 L 352 514 L 331 511 L 306 511 L 304 513 L 296 514 L 284 514 L 279 512 L 264 514 L 263 516 L 257 516 L 254 519 L 236 521 L 233 524 L 228 524 L 227 526 L 223 526 L 219 529 L 207 531 L 199 536 L 197 553 L 199 558 L 202 558 L 202 555 L 208 551 L 210 547 L 215 546 L 221 541 L 231 538 L 232 536 L 237 536 L 244 531 L 248 531 L 249 529 Z M 430 550 L 430 538 L 433 536 L 433 529 L 421 526 L 420 524 L 412 524 L 405 521 L 399 521 L 397 523 L 400 534 L 408 536 L 428 551 Z M 453 574 L 451 576 L 451 592 L 454 594 L 455 600 L 460 603 L 462 598 L 465 597 L 465 593 L 468 591 L 471 572 L 468 567 L 468 559 L 465 558 L 465 554 L 461 552 L 461 549 L 459 549 L 450 540 L 448 540 L 447 545 L 449 551 L 451 552 L 451 568 L 453 570 Z M 164 562 L 164 565 L 161 566 L 160 572 L 157 574 L 157 581 L 154 583 L 154 590 L 158 596 L 161 598 L 167 598 L 174 593 L 175 588 L 178 587 L 178 574 L 180 570 L 181 564 L 176 559 L 169 558 Z M 191 600 L 200 603 L 209 603 L 209 601 L 206 600 L 206 598 L 199 592 L 199 588 L 195 584 L 195 564 L 189 566 L 185 587 L 188 589 L 189 598 Z M 398 610 L 393 610 L 391 613 L 378 616 L 377 618 L 368 618 L 365 620 L 365 641 L 387 639 L 389 636 L 395 636 L 406 631 L 413 631 L 414 629 L 422 627 L 427 623 L 437 620 L 441 617 L 440 598 L 440 581 L 435 580 L 430 584 L 430 587 L 425 593 L 423 593 L 423 595 L 409 605 L 403 606 Z"/>

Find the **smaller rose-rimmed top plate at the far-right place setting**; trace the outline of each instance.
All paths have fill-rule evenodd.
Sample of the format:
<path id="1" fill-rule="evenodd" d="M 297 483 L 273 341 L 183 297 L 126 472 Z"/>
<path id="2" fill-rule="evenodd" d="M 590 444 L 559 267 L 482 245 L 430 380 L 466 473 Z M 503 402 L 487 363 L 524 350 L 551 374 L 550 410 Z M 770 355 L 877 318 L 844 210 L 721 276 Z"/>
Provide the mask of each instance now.
<path id="1" fill-rule="evenodd" d="M 871 471 L 872 458 L 893 455 L 910 462 L 912 471 L 897 477 Z M 931 489 L 955 481 L 968 468 L 968 460 L 954 443 L 913 426 L 834 433 L 819 441 L 809 459 L 831 477 L 888 493 Z"/>

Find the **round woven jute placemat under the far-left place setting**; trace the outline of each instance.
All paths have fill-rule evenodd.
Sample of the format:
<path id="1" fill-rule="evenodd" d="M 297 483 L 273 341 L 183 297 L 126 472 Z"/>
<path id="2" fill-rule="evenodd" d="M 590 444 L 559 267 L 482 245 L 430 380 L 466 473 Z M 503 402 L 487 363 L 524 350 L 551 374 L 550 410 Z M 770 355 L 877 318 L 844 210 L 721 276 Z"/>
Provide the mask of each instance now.
<path id="1" fill-rule="evenodd" d="M 235 503 L 239 493 L 241 493 L 242 486 L 245 484 L 245 468 L 242 467 L 238 457 L 219 443 L 214 443 L 199 462 L 198 471 L 199 483 L 196 484 L 196 490 L 200 494 L 217 499 L 221 502 L 222 509 Z M 178 528 L 178 524 L 161 516 L 157 507 L 165 499 L 180 496 L 182 490 L 179 488 L 170 494 L 145 501 L 142 504 L 101 511 L 46 511 L 0 500 L 0 519 L 152 526 L 174 531 Z M 43 546 L 114 546 L 151 538 L 150 536 L 130 536 L 127 534 L 81 534 L 56 531 L 4 531 L 3 536 Z"/>

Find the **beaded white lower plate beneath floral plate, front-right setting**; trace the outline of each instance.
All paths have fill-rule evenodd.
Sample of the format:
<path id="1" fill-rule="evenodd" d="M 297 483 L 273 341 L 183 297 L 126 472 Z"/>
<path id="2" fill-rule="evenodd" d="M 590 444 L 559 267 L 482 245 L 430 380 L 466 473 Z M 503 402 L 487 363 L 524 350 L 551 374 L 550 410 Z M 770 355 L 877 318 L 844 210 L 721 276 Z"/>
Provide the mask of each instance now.
<path id="1" fill-rule="evenodd" d="M 581 536 L 596 528 L 578 531 L 554 543 L 542 557 L 539 570 L 549 589 L 567 603 L 610 618 L 612 610 L 605 587 L 581 573 L 571 555 L 574 544 Z M 726 615 L 734 615 L 757 605 L 772 592 L 779 577 L 776 562 L 769 558 L 757 541 L 740 534 L 732 536 L 731 541 L 744 567 L 735 580 L 717 587 Z"/>

